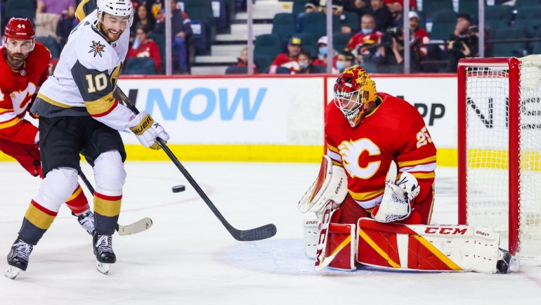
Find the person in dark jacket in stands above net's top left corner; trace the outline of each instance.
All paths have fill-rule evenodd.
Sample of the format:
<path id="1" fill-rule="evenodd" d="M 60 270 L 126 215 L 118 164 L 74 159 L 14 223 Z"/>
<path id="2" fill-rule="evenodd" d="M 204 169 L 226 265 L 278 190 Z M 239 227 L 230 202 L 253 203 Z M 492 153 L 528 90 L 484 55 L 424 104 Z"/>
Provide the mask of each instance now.
<path id="1" fill-rule="evenodd" d="M 479 41 L 477 36 L 470 32 L 471 25 L 472 18 L 470 14 L 462 13 L 457 15 L 454 32 L 447 41 L 448 72 L 457 72 L 457 64 L 460 58 L 474 57 L 479 52 Z"/>

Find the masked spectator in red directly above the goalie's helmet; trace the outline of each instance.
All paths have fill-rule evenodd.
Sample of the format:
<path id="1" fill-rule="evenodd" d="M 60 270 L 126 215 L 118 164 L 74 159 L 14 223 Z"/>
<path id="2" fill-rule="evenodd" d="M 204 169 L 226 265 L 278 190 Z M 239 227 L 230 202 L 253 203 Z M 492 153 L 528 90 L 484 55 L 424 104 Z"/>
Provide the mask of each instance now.
<path id="1" fill-rule="evenodd" d="M 345 46 L 345 51 L 357 56 L 358 63 L 365 63 L 376 56 L 382 32 L 376 31 L 376 21 L 371 14 L 365 14 L 360 21 L 360 32 L 355 34 Z"/>

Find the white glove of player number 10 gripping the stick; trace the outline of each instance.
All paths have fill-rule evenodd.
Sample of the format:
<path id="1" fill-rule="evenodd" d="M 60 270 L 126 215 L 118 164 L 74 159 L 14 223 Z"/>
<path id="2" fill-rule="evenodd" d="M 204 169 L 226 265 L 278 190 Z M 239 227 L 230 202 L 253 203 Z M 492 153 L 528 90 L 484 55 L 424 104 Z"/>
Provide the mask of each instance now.
<path id="1" fill-rule="evenodd" d="M 143 146 L 150 147 L 152 149 L 160 149 L 157 142 L 157 138 L 167 141 L 169 134 L 163 129 L 163 127 L 154 122 L 154 119 L 148 114 L 146 110 L 141 111 L 135 118 L 128 124 L 130 131 L 135 133 L 137 139 Z"/>

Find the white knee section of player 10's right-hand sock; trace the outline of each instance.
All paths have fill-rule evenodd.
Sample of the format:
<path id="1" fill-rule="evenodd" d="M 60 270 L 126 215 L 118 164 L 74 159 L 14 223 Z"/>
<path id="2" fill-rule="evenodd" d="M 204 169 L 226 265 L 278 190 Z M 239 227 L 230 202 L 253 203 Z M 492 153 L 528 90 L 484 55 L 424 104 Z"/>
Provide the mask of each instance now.
<path id="1" fill-rule="evenodd" d="M 126 170 L 117 150 L 101 153 L 94 162 L 96 192 L 108 196 L 122 194 L 126 182 Z"/>

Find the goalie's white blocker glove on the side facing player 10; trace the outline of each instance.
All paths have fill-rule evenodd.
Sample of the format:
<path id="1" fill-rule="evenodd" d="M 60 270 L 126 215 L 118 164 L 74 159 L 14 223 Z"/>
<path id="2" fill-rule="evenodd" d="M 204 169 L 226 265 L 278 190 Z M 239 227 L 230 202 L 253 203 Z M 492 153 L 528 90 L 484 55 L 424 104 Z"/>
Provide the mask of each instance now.
<path id="1" fill-rule="evenodd" d="M 302 196 L 297 208 L 302 213 L 320 212 L 329 201 L 334 201 L 336 209 L 347 195 L 347 176 L 344 168 L 332 165 L 330 157 L 323 156 L 319 175 Z"/>

